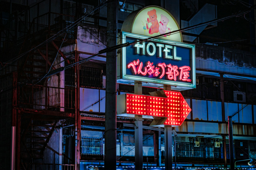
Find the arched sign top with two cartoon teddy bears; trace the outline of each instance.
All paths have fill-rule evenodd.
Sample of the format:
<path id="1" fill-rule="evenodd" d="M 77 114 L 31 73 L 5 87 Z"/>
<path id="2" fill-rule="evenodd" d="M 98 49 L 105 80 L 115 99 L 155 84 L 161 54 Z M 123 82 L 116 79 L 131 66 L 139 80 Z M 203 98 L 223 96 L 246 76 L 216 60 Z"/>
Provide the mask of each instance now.
<path id="1" fill-rule="evenodd" d="M 121 31 L 153 37 L 179 29 L 177 21 L 167 10 L 158 6 L 147 6 L 129 14 Z M 181 33 L 161 39 L 183 42 Z"/>

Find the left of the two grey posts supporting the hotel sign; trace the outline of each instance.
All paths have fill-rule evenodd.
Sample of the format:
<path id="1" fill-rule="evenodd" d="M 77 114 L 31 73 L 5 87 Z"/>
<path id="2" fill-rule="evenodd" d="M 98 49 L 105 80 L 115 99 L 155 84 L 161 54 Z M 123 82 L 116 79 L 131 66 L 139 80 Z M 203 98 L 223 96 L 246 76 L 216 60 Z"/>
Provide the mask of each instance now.
<path id="1" fill-rule="evenodd" d="M 134 94 L 142 95 L 142 83 L 134 84 Z M 142 170 L 143 167 L 143 130 L 142 115 L 135 115 L 135 170 Z"/>

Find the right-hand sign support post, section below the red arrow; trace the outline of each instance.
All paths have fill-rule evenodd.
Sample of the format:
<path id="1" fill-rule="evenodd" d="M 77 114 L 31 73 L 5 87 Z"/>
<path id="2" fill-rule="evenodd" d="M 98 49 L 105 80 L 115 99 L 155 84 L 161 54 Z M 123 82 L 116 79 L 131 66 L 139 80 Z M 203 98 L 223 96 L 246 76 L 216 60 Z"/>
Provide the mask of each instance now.
<path id="1" fill-rule="evenodd" d="M 172 170 L 172 126 L 164 125 L 165 170 Z"/>

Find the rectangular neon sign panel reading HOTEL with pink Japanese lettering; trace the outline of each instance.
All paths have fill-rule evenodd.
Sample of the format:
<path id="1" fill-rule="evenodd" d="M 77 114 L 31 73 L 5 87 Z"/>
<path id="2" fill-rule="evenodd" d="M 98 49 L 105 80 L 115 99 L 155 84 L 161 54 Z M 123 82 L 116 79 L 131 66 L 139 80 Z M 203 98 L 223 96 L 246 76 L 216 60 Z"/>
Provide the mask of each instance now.
<path id="1" fill-rule="evenodd" d="M 121 40 L 132 43 L 146 38 L 149 37 L 122 32 Z M 133 80 L 186 89 L 196 87 L 195 45 L 154 39 L 124 47 L 120 62 L 121 80 L 118 83 Z"/>

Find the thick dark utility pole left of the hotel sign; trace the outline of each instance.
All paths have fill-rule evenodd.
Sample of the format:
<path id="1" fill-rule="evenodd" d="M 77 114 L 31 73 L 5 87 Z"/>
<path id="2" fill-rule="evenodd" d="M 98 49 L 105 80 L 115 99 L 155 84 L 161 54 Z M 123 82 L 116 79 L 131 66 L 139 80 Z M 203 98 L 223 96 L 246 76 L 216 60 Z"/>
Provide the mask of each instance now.
<path id="1" fill-rule="evenodd" d="M 118 1 L 107 4 L 107 47 L 117 44 Z M 106 60 L 106 113 L 105 156 L 107 170 L 116 170 L 116 50 L 107 53 Z"/>

